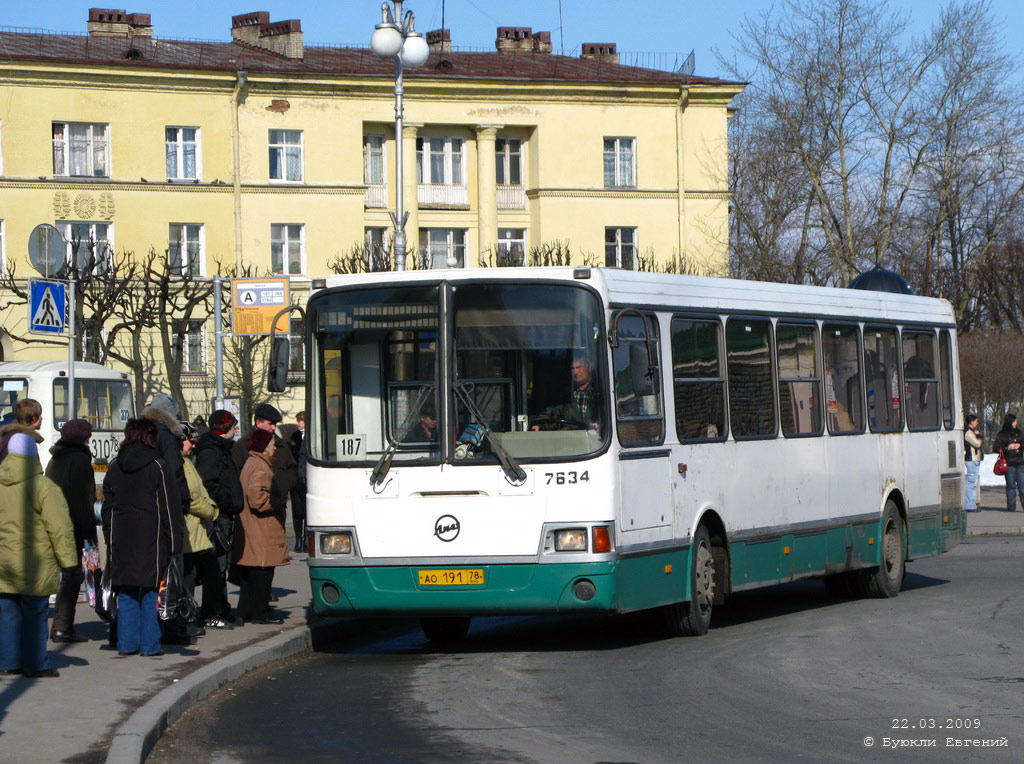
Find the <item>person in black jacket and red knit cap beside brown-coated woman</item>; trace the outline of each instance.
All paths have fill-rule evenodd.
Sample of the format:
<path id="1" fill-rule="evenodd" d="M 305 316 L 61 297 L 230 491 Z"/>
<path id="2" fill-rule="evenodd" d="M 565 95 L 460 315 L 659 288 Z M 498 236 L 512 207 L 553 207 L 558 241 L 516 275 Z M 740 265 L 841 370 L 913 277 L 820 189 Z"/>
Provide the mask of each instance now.
<path id="1" fill-rule="evenodd" d="M 219 585 L 223 590 L 221 602 L 227 602 L 227 568 L 230 562 L 233 543 L 234 518 L 244 507 L 242 482 L 239 480 L 239 470 L 231 461 L 231 448 L 234 445 L 234 433 L 238 431 L 239 420 L 224 409 L 218 409 L 210 415 L 210 429 L 202 433 L 196 440 L 196 469 L 203 478 L 206 493 L 210 495 L 220 514 L 211 523 L 211 540 L 217 554 L 217 565 L 220 568 Z M 230 621 L 229 609 L 218 612 L 216 618 Z"/>

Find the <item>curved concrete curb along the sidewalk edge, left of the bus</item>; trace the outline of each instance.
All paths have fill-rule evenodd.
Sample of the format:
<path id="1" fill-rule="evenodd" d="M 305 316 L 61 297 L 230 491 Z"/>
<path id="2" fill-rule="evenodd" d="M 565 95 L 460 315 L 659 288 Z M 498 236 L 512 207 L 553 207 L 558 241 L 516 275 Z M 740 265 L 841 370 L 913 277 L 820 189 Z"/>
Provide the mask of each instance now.
<path id="1" fill-rule="evenodd" d="M 378 621 L 334 620 L 295 627 L 224 655 L 165 687 L 135 711 L 111 738 L 106 764 L 142 764 L 168 726 L 227 682 L 272 661 L 297 655 L 333 641 L 345 627 L 377 631 Z M 352 636 L 348 634 L 348 636 Z"/>

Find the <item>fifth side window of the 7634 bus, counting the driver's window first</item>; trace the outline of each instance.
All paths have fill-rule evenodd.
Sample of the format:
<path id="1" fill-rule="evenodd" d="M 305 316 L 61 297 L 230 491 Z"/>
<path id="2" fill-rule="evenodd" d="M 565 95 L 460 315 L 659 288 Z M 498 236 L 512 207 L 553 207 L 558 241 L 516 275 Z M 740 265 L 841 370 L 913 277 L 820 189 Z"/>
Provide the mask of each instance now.
<path id="1" fill-rule="evenodd" d="M 825 324 L 821 327 L 821 360 L 828 432 L 834 435 L 863 432 L 863 384 L 856 325 Z"/>

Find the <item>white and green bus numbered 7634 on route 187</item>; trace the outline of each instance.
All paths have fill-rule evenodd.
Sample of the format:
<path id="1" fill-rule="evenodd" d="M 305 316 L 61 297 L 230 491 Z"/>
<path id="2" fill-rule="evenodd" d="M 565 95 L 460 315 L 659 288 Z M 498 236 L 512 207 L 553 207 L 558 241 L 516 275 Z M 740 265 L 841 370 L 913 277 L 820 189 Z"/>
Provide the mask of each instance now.
<path id="1" fill-rule="evenodd" d="M 907 560 L 964 537 L 943 300 L 571 267 L 314 287 L 321 614 L 445 639 L 473 616 L 659 607 L 703 634 L 730 593 L 796 579 L 894 597 Z"/>

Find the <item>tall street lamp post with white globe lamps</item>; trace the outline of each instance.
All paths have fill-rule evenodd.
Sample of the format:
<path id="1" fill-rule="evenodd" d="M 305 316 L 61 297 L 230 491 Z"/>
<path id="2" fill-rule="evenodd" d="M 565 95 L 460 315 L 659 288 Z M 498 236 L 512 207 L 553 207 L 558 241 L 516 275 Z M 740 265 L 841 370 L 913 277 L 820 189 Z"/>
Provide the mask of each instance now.
<path id="1" fill-rule="evenodd" d="M 394 12 L 388 3 L 381 3 L 381 23 L 374 28 L 370 38 L 370 47 L 381 58 L 394 58 L 394 145 L 395 145 L 395 211 L 389 212 L 394 223 L 394 269 L 406 269 L 406 220 L 409 213 L 404 211 L 404 166 L 402 162 L 402 124 L 403 114 L 401 98 L 404 95 L 402 84 L 402 67 L 422 67 L 430 57 L 430 48 L 426 40 L 416 32 L 413 25 L 416 20 L 413 11 L 408 11 L 402 17 L 403 0 L 391 0 Z M 399 20 L 400 19 L 400 20 Z"/>

